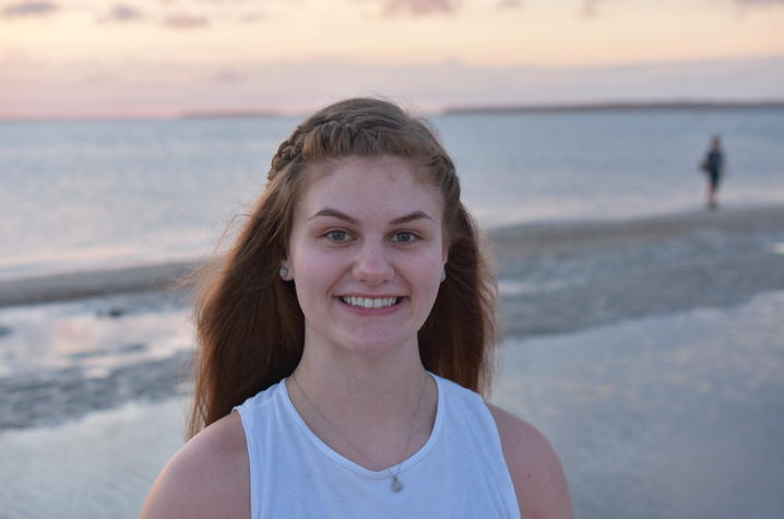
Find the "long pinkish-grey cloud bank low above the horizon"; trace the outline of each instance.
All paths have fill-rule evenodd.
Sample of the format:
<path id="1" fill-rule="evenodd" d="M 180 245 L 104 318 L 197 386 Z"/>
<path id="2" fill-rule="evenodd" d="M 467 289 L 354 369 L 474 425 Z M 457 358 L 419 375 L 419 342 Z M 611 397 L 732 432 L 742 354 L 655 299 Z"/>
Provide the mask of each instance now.
<path id="1" fill-rule="evenodd" d="M 784 92 L 782 70 L 784 57 L 574 68 L 330 59 L 222 67 L 132 60 L 55 64 L 14 51 L 0 54 L 0 117 L 173 116 L 265 107 L 295 113 L 347 96 L 372 94 L 432 108 L 779 99 Z M 237 81 L 228 81 L 233 74 Z"/>

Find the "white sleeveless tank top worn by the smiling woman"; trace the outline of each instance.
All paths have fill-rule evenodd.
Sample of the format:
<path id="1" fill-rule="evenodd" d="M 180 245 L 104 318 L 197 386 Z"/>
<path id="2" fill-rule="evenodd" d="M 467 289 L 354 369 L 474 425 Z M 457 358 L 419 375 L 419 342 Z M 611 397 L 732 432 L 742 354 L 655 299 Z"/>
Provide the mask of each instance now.
<path id="1" fill-rule="evenodd" d="M 285 380 L 235 408 L 248 444 L 251 518 L 520 518 L 484 400 L 432 377 L 436 423 L 403 462 L 399 493 L 389 471 L 365 469 L 321 441 L 294 408 Z"/>

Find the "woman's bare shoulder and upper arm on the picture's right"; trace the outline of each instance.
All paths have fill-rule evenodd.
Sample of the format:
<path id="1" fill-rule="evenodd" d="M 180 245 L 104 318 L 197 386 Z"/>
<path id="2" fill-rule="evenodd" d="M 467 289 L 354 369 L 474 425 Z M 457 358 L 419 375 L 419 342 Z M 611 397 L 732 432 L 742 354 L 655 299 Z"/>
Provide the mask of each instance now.
<path id="1" fill-rule="evenodd" d="M 571 519 L 569 488 L 558 455 L 536 427 L 487 404 L 498 426 L 524 519 Z"/>

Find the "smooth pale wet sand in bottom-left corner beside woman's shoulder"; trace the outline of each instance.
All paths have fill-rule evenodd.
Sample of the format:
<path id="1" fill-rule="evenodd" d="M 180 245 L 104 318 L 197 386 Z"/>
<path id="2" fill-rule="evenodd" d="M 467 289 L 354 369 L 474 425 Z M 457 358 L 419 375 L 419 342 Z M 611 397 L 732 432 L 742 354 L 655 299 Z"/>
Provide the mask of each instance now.
<path id="1" fill-rule="evenodd" d="M 0 517 L 139 517 L 163 464 L 182 444 L 185 416 L 185 403 L 169 398 L 0 433 Z"/>

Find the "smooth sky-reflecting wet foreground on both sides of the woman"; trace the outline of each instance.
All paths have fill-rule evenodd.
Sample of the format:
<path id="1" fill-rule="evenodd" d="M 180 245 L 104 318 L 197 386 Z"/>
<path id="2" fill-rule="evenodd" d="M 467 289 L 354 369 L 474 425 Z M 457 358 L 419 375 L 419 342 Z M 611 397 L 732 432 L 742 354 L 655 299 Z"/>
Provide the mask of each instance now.
<path id="1" fill-rule="evenodd" d="M 558 450 L 575 517 L 780 518 L 784 292 L 509 339 L 491 400 Z M 0 432 L 0 517 L 135 517 L 182 441 L 183 398 Z"/>

